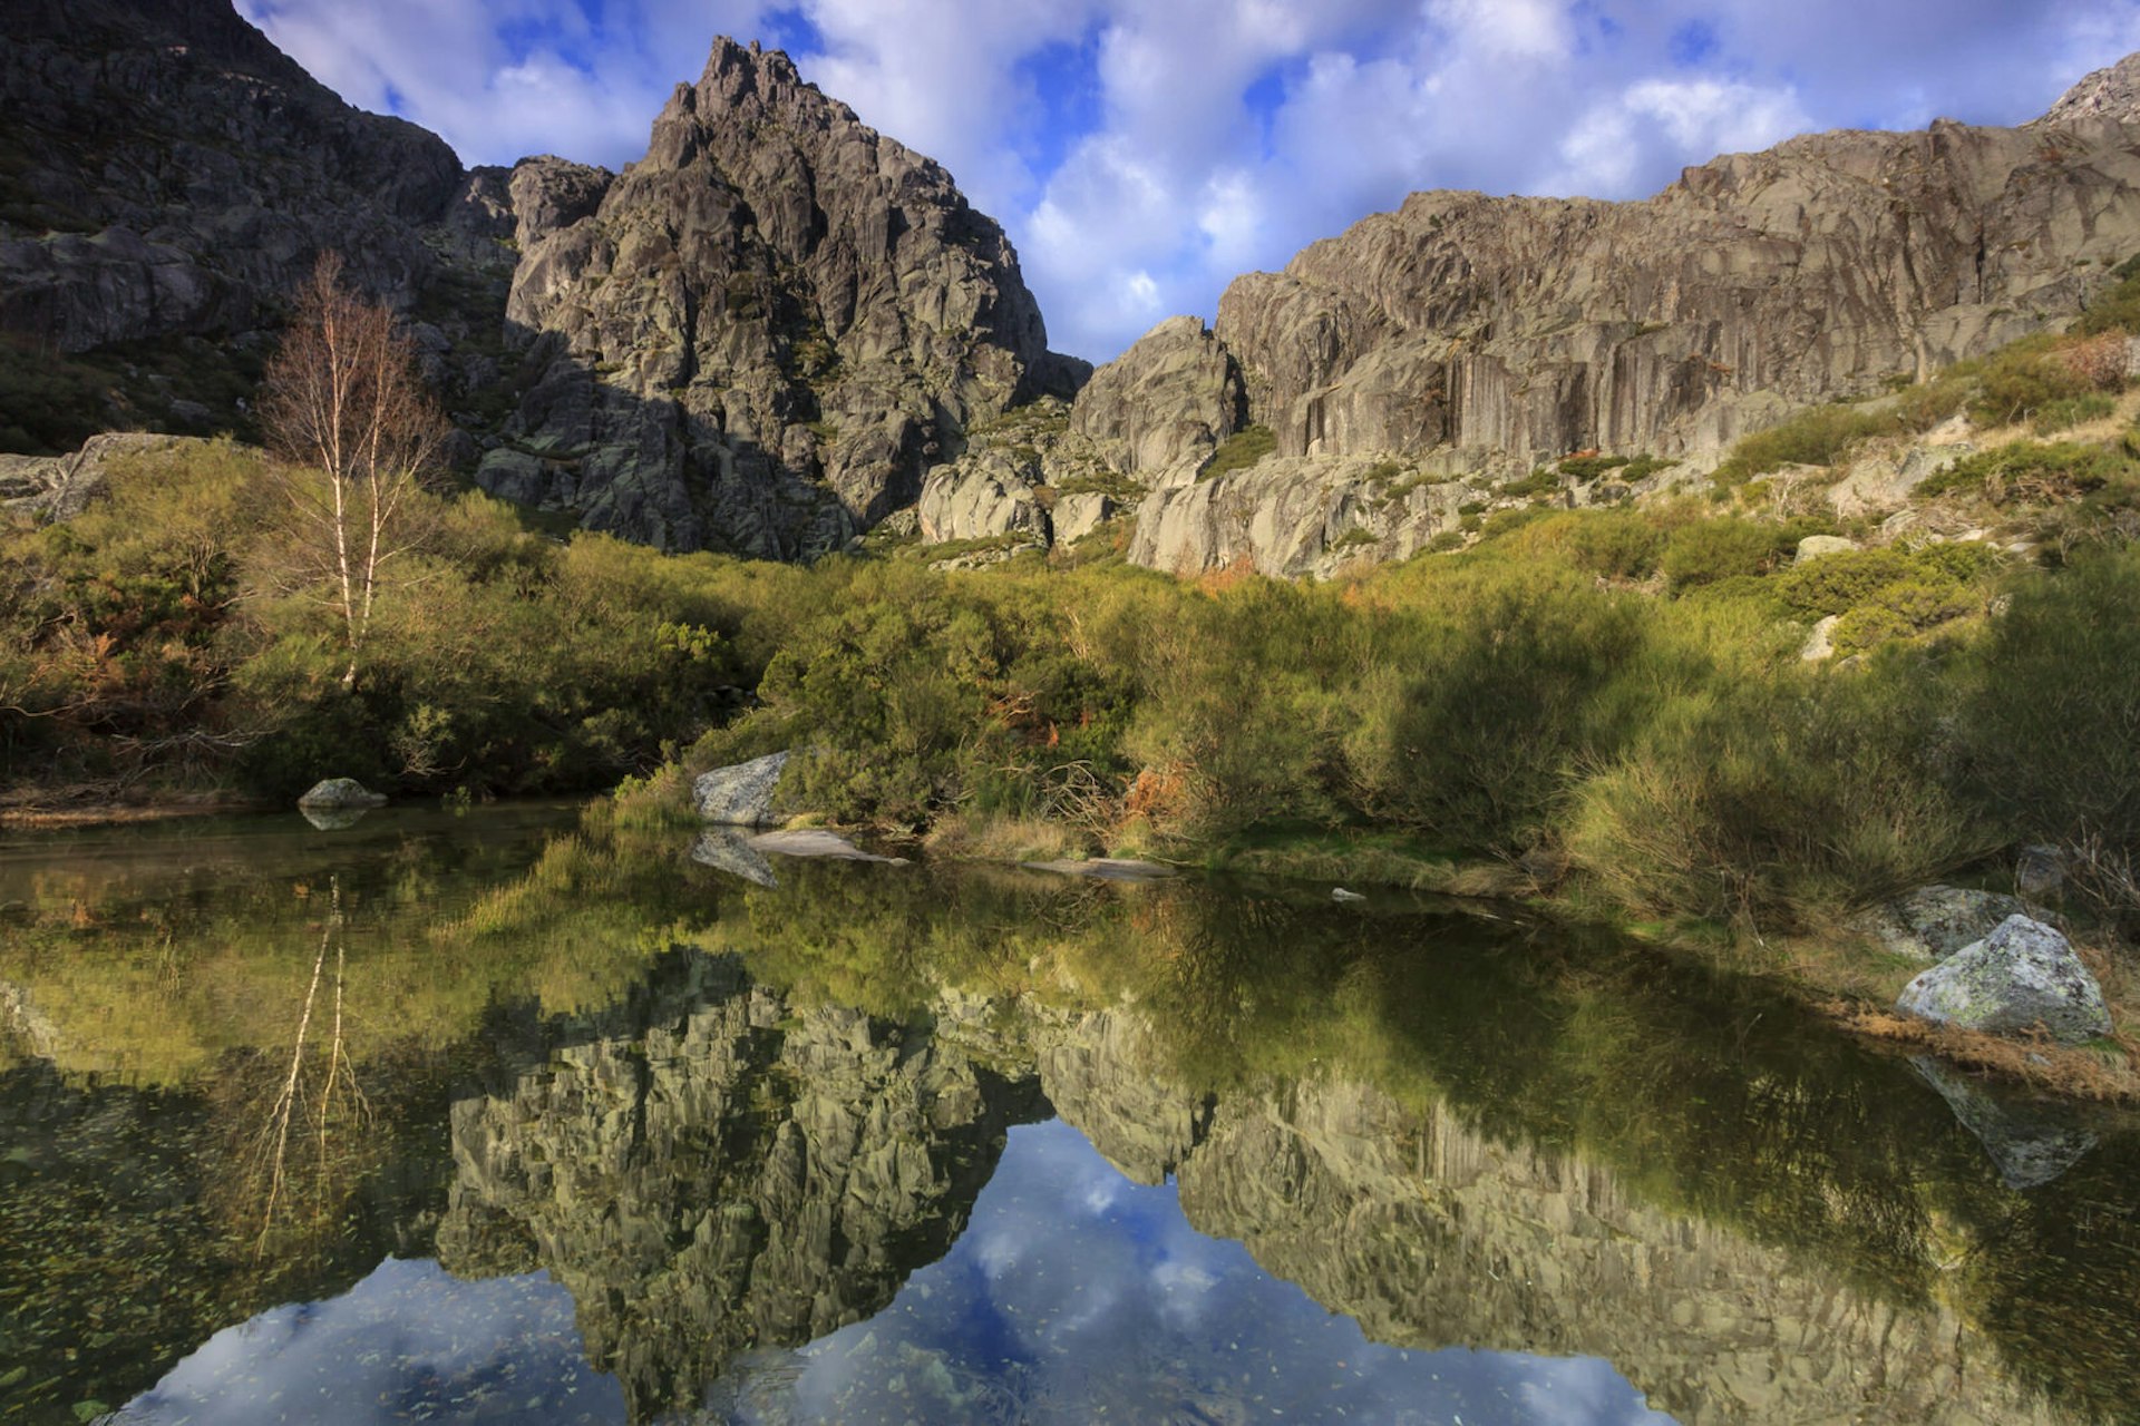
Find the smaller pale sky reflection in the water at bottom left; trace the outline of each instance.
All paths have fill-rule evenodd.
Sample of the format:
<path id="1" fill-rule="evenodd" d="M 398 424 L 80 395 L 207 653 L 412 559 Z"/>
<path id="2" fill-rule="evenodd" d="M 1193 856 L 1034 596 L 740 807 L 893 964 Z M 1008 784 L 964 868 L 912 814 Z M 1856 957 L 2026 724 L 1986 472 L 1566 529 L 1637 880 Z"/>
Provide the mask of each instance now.
<path id="1" fill-rule="evenodd" d="M 278 1306 L 214 1334 L 118 1415 L 141 1422 L 621 1422 L 571 1296 L 546 1274 L 460 1283 L 430 1261 L 383 1261 L 340 1298 Z"/>

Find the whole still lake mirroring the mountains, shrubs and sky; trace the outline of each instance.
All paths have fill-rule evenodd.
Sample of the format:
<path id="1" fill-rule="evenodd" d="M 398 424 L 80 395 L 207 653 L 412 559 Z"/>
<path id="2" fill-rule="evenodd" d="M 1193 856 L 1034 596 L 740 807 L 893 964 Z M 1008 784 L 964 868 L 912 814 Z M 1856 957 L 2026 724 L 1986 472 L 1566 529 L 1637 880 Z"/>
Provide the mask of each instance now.
<path id="1" fill-rule="evenodd" d="M 2134 1422 L 2140 1129 L 1393 892 L 6 834 L 0 1422 L 86 1420 Z"/>

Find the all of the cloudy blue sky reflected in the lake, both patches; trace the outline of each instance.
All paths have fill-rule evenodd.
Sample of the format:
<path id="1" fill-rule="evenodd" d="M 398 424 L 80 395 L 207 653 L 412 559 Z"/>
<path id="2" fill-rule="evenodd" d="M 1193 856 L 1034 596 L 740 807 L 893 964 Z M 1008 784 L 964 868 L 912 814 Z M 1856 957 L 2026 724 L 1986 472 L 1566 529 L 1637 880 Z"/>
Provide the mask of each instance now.
<path id="1" fill-rule="evenodd" d="M 967 1231 L 871 1321 L 715 1385 L 738 1422 L 1665 1422 L 1596 1360 L 1400 1351 L 1188 1225 L 1064 1122 L 1010 1131 Z M 623 1417 L 548 1276 L 387 1261 L 216 1334 L 128 1422 Z"/>

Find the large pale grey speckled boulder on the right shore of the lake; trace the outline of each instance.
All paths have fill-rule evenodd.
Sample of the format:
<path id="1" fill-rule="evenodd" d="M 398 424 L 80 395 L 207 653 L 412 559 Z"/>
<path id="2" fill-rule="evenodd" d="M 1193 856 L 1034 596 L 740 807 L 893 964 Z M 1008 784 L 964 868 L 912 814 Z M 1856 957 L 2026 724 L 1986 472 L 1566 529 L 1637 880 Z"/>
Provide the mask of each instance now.
<path id="1" fill-rule="evenodd" d="M 2110 1009 L 2089 968 L 2050 926 L 2009 915 L 1902 988 L 1905 1016 L 1988 1035 L 2042 1028 L 2059 1043 L 2110 1033 Z"/>

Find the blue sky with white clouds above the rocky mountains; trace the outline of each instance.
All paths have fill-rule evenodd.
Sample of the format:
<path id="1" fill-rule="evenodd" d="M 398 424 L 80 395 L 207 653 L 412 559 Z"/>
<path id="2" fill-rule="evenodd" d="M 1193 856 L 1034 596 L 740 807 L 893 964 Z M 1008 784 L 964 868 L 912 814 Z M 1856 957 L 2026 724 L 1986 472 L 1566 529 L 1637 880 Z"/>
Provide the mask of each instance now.
<path id="1" fill-rule="evenodd" d="M 1010 231 L 1061 351 L 1417 188 L 1644 197 L 1808 128 L 2014 124 L 2140 0 L 238 0 L 467 162 L 621 167 L 715 34 L 788 49 Z"/>

